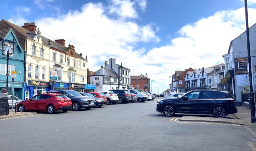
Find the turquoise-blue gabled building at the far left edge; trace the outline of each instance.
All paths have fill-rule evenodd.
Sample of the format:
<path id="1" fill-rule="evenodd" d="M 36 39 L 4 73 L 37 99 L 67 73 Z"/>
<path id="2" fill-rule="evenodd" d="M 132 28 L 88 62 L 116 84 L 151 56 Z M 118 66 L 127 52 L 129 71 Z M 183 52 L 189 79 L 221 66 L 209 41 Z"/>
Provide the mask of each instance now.
<path id="1" fill-rule="evenodd" d="M 5 44 L 7 44 L 7 48 L 5 53 L 7 53 L 7 50 L 9 49 L 9 52 L 11 52 L 11 47 L 9 42 L 11 42 L 13 39 L 18 42 L 17 48 L 14 50 L 14 54 L 10 55 L 9 58 L 9 76 L 8 76 L 8 94 L 12 95 L 12 87 L 13 82 L 11 78 L 11 72 L 16 71 L 17 77 L 14 78 L 14 95 L 19 97 L 20 99 L 24 99 L 24 50 L 22 49 L 18 38 L 14 34 L 13 29 L 4 29 L 0 30 L 0 39 L 3 39 Z M 0 93 L 6 94 L 6 71 L 7 71 L 7 59 L 6 56 L 2 55 L 2 52 L 0 52 Z"/>

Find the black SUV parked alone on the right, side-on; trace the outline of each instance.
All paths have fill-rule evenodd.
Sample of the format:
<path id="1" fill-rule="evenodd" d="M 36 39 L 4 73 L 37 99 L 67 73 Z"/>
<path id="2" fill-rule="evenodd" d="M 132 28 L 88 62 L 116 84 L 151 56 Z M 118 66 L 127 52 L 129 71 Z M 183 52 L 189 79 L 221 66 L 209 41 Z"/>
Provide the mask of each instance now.
<path id="1" fill-rule="evenodd" d="M 166 98 L 157 101 L 156 111 L 172 116 L 175 113 L 213 114 L 223 118 L 237 113 L 235 97 L 228 91 L 192 90 L 179 98 Z"/>

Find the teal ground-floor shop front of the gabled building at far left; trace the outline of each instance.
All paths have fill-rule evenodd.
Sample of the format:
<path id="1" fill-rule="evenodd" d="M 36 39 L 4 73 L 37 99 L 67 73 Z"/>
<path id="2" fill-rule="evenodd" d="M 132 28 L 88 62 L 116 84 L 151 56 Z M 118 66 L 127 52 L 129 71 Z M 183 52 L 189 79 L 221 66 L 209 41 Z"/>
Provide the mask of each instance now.
<path id="1" fill-rule="evenodd" d="M 8 95 L 12 95 L 12 87 L 13 87 L 13 83 L 8 81 Z M 6 81 L 0 82 L 0 91 L 1 93 L 6 94 Z M 24 91 L 24 83 L 14 82 L 13 95 L 23 100 L 24 99 L 23 91 Z"/>

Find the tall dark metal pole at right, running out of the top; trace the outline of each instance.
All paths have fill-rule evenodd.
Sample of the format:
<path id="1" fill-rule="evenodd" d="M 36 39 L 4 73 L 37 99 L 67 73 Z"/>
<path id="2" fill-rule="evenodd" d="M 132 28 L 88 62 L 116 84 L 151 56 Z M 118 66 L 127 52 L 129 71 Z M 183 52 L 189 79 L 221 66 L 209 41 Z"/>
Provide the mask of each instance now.
<path id="1" fill-rule="evenodd" d="M 252 69 L 251 69 L 251 52 L 250 52 L 250 39 L 249 39 L 249 27 L 248 27 L 248 11 L 247 11 L 247 0 L 244 0 L 245 5 L 245 22 L 246 22 L 246 38 L 247 38 L 247 53 L 248 53 L 248 66 L 249 66 L 249 79 L 250 79 L 250 92 L 249 98 L 251 102 L 251 122 L 255 123 L 255 105 L 254 105 L 254 93 L 252 87 Z"/>

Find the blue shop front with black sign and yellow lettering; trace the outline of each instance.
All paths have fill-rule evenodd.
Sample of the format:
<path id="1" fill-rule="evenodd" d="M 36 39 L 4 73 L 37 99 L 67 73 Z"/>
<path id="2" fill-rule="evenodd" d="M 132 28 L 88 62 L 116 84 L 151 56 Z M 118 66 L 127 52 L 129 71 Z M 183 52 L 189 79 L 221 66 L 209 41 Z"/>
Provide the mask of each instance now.
<path id="1" fill-rule="evenodd" d="M 38 80 L 27 80 L 25 87 L 25 97 L 31 98 L 36 94 L 47 92 L 50 90 L 49 82 Z"/>

